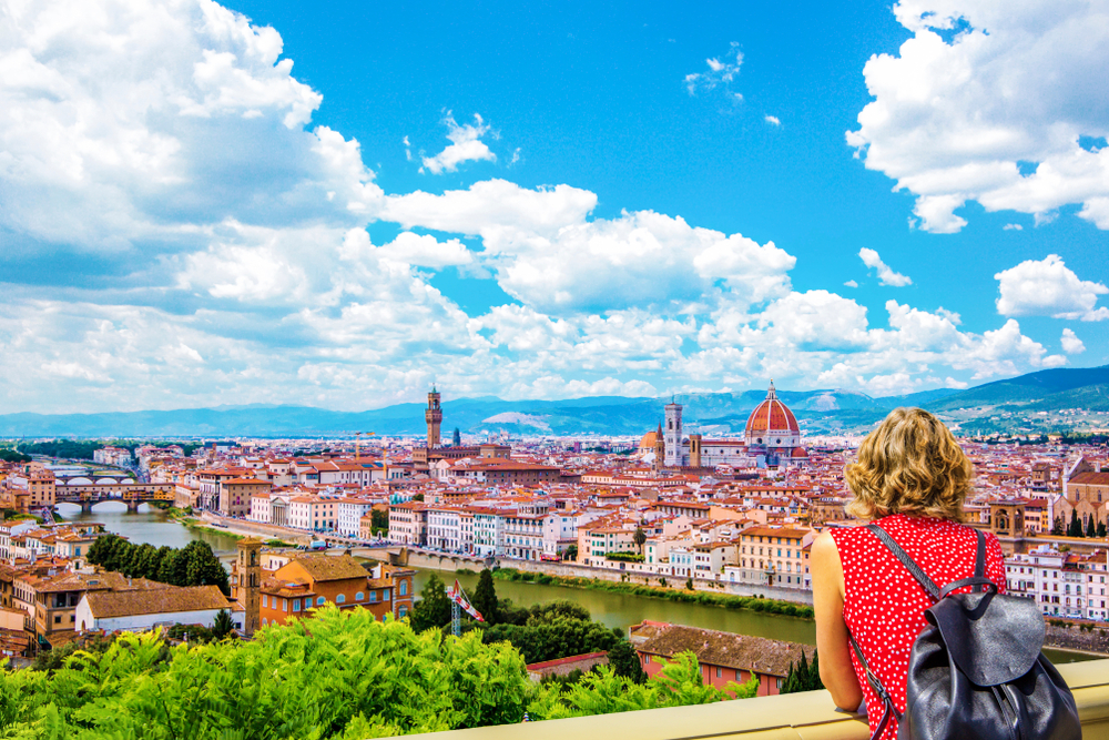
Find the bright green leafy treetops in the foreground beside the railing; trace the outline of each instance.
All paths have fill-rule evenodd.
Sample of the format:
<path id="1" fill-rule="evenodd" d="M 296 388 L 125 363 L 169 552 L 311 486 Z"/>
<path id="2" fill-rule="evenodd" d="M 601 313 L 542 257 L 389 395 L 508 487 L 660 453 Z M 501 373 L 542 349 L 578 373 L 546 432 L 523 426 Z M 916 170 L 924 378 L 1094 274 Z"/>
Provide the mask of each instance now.
<path id="1" fill-rule="evenodd" d="M 3 667 L 3 663 L 0 663 Z M 736 697 L 756 685 L 730 685 Z M 250 641 L 165 646 L 123 633 L 52 671 L 0 670 L 0 737 L 364 738 L 558 719 L 731 698 L 682 653 L 644 683 L 600 668 L 570 687 L 533 685 L 520 653 L 477 633 L 415 632 L 328 606 Z"/>

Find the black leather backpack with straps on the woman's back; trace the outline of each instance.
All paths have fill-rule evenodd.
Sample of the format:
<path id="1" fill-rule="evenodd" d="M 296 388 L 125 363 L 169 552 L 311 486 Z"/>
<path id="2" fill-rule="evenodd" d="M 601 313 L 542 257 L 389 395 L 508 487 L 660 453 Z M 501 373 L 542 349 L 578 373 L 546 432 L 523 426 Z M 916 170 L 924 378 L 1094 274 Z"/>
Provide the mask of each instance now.
<path id="1" fill-rule="evenodd" d="M 1075 697 L 1044 657 L 1044 615 L 1030 599 L 997 592 L 986 578 L 986 537 L 978 535 L 975 575 L 939 588 L 877 524 L 867 526 L 902 561 L 936 604 L 925 611 L 908 660 L 908 702 L 898 713 L 882 681 L 851 646 L 874 693 L 885 704 L 872 740 L 889 717 L 898 740 L 999 738 L 1079 740 Z M 952 591 L 973 586 L 970 594 Z M 875 710 L 877 708 L 874 708 Z"/>

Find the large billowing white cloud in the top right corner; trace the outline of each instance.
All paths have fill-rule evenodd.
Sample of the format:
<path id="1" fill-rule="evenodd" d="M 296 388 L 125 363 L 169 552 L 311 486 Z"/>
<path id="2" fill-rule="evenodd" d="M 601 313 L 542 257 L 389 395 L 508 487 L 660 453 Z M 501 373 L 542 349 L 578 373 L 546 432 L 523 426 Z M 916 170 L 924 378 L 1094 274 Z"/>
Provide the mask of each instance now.
<path id="1" fill-rule="evenodd" d="M 1109 229 L 1109 20 L 1097 3 L 901 0 L 913 38 L 864 68 L 875 98 L 847 133 L 866 166 L 917 196 L 918 225 L 953 233 L 967 201 L 1044 215 L 1069 203 Z M 957 31 L 957 32 L 956 32 Z M 945 41 L 945 36 L 947 40 Z"/>

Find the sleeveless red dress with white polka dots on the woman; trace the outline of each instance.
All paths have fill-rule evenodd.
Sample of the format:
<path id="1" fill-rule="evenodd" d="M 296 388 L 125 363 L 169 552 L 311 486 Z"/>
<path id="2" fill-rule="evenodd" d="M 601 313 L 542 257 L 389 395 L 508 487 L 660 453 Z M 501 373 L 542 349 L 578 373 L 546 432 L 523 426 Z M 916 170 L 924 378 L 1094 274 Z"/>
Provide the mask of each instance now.
<path id="1" fill-rule="evenodd" d="M 973 528 L 948 519 L 903 514 L 883 517 L 878 523 L 940 588 L 974 575 L 977 535 Z M 924 611 L 934 601 L 866 527 L 832 529 L 831 533 L 843 564 L 844 621 L 897 711 L 904 712 L 909 651 L 924 629 Z M 986 577 L 997 584 L 999 591 L 1005 591 L 1005 559 L 1000 544 L 990 534 L 986 535 Z M 954 592 L 969 590 L 967 587 Z M 854 651 L 851 661 L 866 699 L 871 732 L 874 732 L 882 719 L 882 700 L 867 683 Z M 896 737 L 897 720 L 891 717 L 883 738 Z"/>

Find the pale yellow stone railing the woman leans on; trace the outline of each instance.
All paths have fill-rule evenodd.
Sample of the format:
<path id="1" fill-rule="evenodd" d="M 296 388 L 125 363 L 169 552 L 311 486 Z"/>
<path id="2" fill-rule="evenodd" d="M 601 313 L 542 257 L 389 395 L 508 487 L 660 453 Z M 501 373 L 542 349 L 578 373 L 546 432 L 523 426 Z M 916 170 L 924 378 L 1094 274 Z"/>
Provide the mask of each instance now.
<path id="1" fill-rule="evenodd" d="M 1109 660 L 1059 666 L 1082 719 L 1085 740 L 1109 739 Z M 435 733 L 435 740 L 866 740 L 866 721 L 837 711 L 827 691 L 759 697 L 698 707 L 600 714 L 574 719 L 501 724 Z M 425 736 L 431 738 L 433 736 Z"/>

